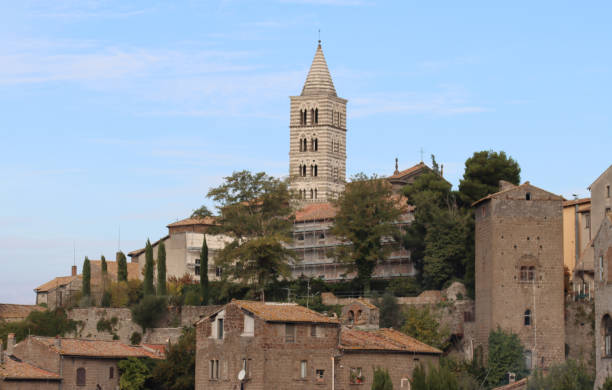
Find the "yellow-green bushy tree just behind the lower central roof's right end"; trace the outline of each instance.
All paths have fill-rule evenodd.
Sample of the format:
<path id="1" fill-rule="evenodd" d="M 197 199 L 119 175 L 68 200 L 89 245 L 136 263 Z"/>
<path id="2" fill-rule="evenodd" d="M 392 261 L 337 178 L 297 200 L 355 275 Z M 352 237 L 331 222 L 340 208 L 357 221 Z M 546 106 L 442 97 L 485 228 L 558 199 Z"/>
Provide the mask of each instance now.
<path id="1" fill-rule="evenodd" d="M 450 331 L 440 326 L 440 322 L 429 307 L 409 306 L 402 332 L 441 350 L 449 346 Z"/>

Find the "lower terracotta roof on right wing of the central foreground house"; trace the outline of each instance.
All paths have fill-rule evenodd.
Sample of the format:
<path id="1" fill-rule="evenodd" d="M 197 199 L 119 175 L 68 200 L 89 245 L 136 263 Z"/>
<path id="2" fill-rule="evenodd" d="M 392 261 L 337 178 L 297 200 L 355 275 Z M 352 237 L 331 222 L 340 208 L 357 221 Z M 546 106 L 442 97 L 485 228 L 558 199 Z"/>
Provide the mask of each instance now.
<path id="1" fill-rule="evenodd" d="M 439 349 L 422 343 L 407 334 L 388 328 L 370 331 L 342 328 L 340 348 L 344 350 L 395 351 L 436 355 L 442 353 Z"/>

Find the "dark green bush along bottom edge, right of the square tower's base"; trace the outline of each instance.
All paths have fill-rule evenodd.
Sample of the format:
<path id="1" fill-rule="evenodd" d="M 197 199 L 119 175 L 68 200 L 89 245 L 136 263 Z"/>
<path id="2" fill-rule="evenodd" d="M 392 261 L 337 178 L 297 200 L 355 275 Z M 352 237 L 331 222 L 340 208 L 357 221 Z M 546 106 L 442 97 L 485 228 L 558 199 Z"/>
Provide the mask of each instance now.
<path id="1" fill-rule="evenodd" d="M 528 390 L 591 390 L 593 388 L 593 376 L 583 362 L 566 360 L 564 363 L 554 366 L 549 373 L 541 370 L 529 378 Z M 606 385 L 607 383 L 607 385 Z M 612 381 L 606 381 L 600 389 L 612 389 Z M 606 387 L 607 386 L 607 387 Z"/>

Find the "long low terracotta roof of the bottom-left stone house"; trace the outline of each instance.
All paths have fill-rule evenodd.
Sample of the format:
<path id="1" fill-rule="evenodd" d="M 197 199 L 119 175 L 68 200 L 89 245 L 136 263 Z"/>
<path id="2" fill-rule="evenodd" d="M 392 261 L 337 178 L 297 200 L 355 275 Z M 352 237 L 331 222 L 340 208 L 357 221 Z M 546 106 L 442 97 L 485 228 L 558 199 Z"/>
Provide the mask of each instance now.
<path id="1" fill-rule="evenodd" d="M 88 356 L 99 358 L 128 358 L 150 357 L 159 359 L 157 353 L 141 346 L 123 344 L 121 341 L 102 341 L 59 338 L 60 345 L 56 345 L 58 338 L 30 336 L 33 341 L 46 345 L 50 350 L 64 356 Z M 28 342 L 28 339 L 22 341 Z"/>

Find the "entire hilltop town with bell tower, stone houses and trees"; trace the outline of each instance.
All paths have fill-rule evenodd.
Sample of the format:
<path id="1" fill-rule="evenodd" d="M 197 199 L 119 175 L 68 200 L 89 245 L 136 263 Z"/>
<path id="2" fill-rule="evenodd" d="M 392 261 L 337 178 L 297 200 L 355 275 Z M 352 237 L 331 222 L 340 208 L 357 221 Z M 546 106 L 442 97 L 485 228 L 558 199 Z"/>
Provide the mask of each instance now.
<path id="1" fill-rule="evenodd" d="M 612 388 L 612 165 L 582 199 L 503 151 L 347 178 L 320 41 L 290 101 L 288 178 L 0 304 L 0 390 Z"/>

